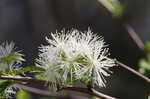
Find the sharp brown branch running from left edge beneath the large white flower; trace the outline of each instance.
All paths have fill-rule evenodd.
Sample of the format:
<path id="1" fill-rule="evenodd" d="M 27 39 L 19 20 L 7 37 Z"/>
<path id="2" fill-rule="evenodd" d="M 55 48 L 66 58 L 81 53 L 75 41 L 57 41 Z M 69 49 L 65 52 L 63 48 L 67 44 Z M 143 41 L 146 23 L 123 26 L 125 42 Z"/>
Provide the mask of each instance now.
<path id="1" fill-rule="evenodd" d="M 28 83 L 39 84 L 39 85 L 53 84 L 53 82 L 47 82 L 44 80 L 36 80 L 36 79 L 32 79 L 32 78 L 27 78 L 27 77 L 0 76 L 0 79 L 2 79 L 2 80 L 15 80 L 15 81 L 28 82 Z M 102 98 L 102 99 L 117 99 L 117 98 L 105 95 L 103 93 L 100 93 L 94 89 L 89 90 L 88 88 L 64 86 L 64 85 L 60 85 L 60 84 L 57 84 L 57 86 L 61 90 L 70 90 L 70 91 L 81 92 L 81 93 L 97 96 L 97 97 Z"/>

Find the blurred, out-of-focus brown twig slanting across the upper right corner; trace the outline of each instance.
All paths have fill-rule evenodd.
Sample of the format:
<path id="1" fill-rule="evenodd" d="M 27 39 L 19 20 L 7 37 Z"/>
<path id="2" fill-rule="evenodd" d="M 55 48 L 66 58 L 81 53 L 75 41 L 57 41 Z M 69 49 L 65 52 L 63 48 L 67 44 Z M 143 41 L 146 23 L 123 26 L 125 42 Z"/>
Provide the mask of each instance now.
<path id="1" fill-rule="evenodd" d="M 109 3 L 108 0 L 98 0 L 98 2 L 104 6 L 107 11 L 111 14 L 114 13 L 113 10 L 113 6 Z M 117 19 L 119 19 L 117 17 Z M 142 51 L 144 51 L 144 42 L 140 39 L 139 35 L 135 32 L 135 30 L 133 29 L 133 27 L 129 24 L 125 24 L 124 22 L 122 22 L 122 26 L 127 30 L 127 32 L 129 33 L 130 37 L 132 38 L 132 40 L 135 42 L 135 44 L 139 47 L 139 49 L 141 49 Z"/>

